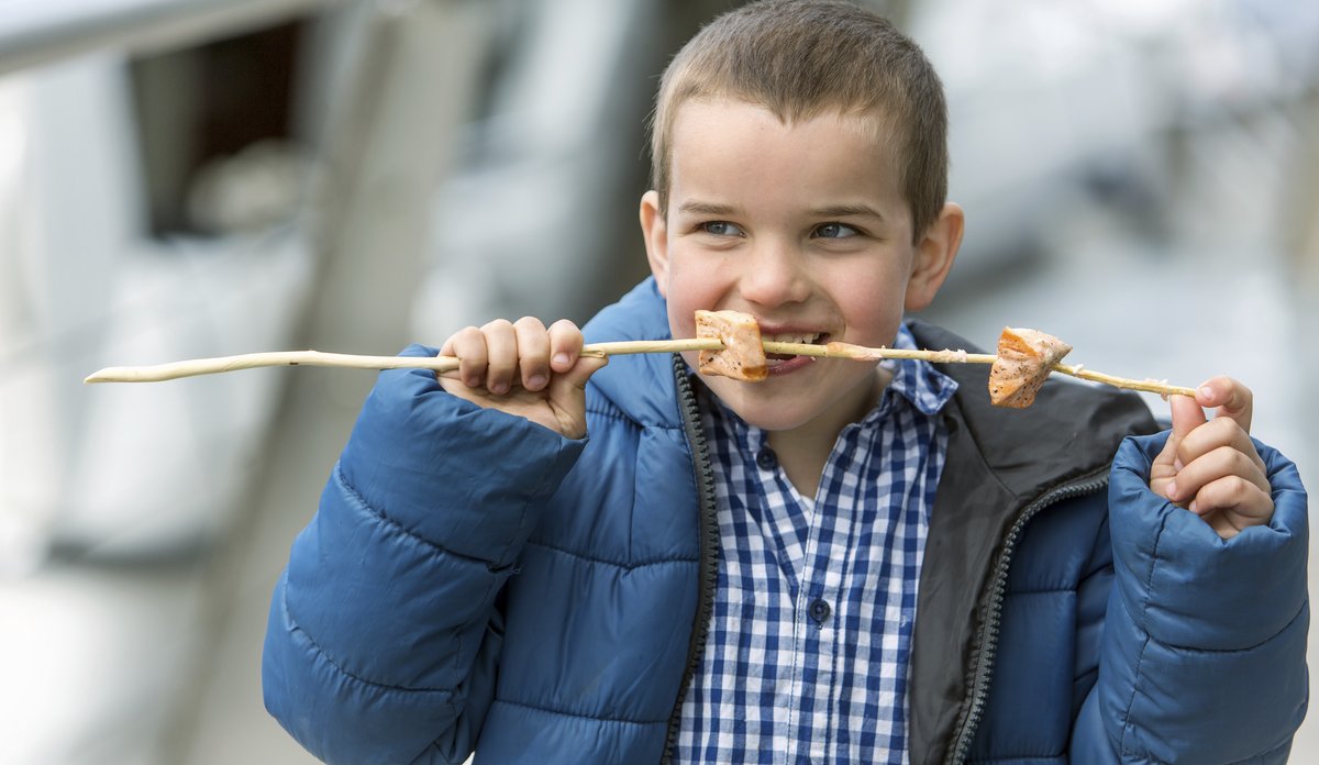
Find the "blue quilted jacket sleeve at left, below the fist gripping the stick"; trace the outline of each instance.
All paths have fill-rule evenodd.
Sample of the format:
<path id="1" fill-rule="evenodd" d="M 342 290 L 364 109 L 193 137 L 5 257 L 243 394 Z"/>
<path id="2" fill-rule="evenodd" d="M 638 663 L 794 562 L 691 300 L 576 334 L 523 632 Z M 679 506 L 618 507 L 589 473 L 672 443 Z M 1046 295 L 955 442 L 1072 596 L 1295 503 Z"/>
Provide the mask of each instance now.
<path id="1" fill-rule="evenodd" d="M 430 372 L 381 373 L 276 586 L 270 714 L 328 762 L 462 762 L 493 694 L 496 599 L 580 448 Z"/>

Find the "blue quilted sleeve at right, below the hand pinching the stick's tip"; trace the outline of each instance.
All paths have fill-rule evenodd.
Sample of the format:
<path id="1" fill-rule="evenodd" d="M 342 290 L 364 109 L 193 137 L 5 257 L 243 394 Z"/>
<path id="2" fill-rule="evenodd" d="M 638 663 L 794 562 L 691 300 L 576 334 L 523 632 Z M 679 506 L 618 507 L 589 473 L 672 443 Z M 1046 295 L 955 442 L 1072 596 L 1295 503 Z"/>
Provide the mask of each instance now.
<path id="1" fill-rule="evenodd" d="M 1256 442 L 1273 520 L 1220 539 L 1149 491 L 1166 438 L 1129 438 L 1113 463 L 1113 587 L 1072 761 L 1283 762 L 1308 695 L 1304 489 Z"/>

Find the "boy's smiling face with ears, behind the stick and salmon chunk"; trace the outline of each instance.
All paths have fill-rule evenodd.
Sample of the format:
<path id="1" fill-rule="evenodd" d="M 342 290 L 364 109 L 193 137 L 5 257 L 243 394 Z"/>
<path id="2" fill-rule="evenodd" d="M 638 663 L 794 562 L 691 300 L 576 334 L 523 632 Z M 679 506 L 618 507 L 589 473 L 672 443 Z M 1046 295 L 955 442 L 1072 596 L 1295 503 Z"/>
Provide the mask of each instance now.
<path id="1" fill-rule="evenodd" d="M 892 152 L 874 136 L 872 120 L 838 113 L 786 125 L 745 102 L 682 104 L 667 214 L 654 191 L 641 200 L 673 335 L 695 335 L 696 309 L 732 309 L 766 339 L 890 346 L 904 309 L 925 307 L 943 282 L 960 210 L 913 244 Z M 881 385 L 873 364 L 805 356 L 772 360 L 764 382 L 703 380 L 769 430 L 842 429 Z"/>

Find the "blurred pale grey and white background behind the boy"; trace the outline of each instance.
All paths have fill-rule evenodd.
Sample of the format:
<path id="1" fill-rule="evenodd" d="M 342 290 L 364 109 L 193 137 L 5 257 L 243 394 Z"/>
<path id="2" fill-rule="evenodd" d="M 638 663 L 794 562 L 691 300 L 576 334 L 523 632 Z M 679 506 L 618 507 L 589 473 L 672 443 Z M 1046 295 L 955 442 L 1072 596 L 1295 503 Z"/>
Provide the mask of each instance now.
<path id="1" fill-rule="evenodd" d="M 0 762 L 310 761 L 266 605 L 375 376 L 83 376 L 586 321 L 646 273 L 656 78 L 731 4 L 0 0 Z M 952 112 L 927 318 L 1229 373 L 1314 489 L 1319 4 L 876 7 Z"/>

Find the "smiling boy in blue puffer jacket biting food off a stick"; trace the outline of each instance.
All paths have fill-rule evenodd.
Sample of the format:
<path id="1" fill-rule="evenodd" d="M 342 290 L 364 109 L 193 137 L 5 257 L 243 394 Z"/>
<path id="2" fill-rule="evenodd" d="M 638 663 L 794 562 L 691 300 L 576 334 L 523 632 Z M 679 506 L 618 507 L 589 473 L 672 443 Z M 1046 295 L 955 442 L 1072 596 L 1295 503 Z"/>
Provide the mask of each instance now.
<path id="1" fill-rule="evenodd" d="M 904 322 L 962 211 L 938 78 L 881 18 L 720 17 L 665 74 L 653 165 L 654 276 L 591 339 L 736 309 L 966 347 Z M 983 368 L 786 357 L 745 384 L 583 342 L 492 322 L 443 344 L 452 376 L 381 375 L 272 605 L 266 706 L 317 756 L 1286 758 L 1306 499 L 1242 385 L 1124 441 L 1155 425 L 1112 390 L 998 410 Z"/>

